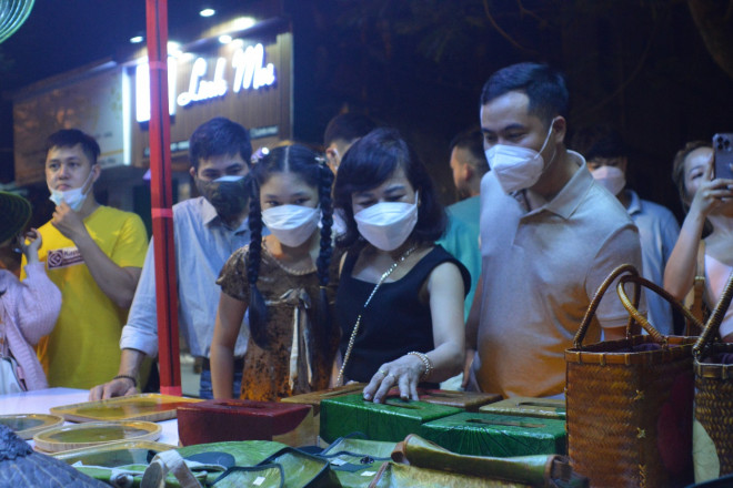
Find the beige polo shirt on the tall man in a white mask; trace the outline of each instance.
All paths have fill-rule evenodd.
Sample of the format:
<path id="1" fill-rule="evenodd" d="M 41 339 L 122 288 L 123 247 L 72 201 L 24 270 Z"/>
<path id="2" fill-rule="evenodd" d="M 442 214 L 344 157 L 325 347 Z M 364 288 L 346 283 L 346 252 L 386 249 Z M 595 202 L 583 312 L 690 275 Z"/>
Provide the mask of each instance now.
<path id="1" fill-rule="evenodd" d="M 594 182 L 585 160 L 545 205 L 526 211 L 503 193 L 492 172 L 481 182 L 483 295 L 474 374 L 484 392 L 541 397 L 563 393 L 564 350 L 594 292 L 616 266 L 641 271 L 639 232 L 611 193 Z M 615 288 L 613 288 L 615 289 Z M 629 317 L 615 292 L 601 302 L 585 344 L 600 325 Z"/>

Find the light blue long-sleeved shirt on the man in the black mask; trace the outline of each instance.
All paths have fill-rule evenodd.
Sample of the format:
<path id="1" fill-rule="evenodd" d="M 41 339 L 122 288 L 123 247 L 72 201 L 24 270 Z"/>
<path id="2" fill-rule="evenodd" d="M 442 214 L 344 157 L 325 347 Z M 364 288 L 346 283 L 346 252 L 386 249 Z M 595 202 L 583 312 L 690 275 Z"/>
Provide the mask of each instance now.
<path id="1" fill-rule="evenodd" d="M 263 232 L 264 234 L 264 232 Z M 203 197 L 173 205 L 175 274 L 178 277 L 178 321 L 193 356 L 209 357 L 221 288 L 219 271 L 229 256 L 250 243 L 248 220 L 229 228 Z M 249 327 L 242 323 L 234 356 L 247 350 Z M 142 266 L 128 323 L 122 328 L 120 348 L 158 354 L 155 313 L 155 263 L 152 240 Z"/>

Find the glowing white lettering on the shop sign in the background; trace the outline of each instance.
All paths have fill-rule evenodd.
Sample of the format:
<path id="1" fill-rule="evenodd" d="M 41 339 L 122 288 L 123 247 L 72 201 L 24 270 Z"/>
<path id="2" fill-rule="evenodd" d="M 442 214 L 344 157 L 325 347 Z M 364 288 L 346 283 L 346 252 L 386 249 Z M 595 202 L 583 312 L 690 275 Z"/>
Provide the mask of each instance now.
<path id="1" fill-rule="evenodd" d="M 175 94 L 175 64 L 172 57 L 168 59 L 168 91 L 169 111 L 175 112 L 175 104 L 188 106 L 192 103 L 202 102 L 224 96 L 230 87 L 231 91 L 239 93 L 242 90 L 259 90 L 275 83 L 275 70 L 272 63 L 264 62 L 264 47 L 262 44 L 250 45 L 247 49 L 237 49 L 231 58 L 233 79 L 231 83 L 227 80 L 227 59 L 217 58 L 213 70 L 209 71 L 210 63 L 205 58 L 195 58 L 191 68 L 188 90 Z M 135 119 L 138 122 L 150 120 L 150 80 L 148 64 L 140 63 L 135 71 L 137 106 Z"/>

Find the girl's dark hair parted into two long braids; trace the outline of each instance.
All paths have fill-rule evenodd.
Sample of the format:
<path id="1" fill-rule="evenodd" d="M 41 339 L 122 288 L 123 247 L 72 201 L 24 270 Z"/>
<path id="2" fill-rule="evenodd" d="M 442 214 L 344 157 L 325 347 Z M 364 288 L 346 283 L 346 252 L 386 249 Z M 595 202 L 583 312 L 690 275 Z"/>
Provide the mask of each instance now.
<path id="1" fill-rule="evenodd" d="M 262 257 L 262 209 L 260 205 L 260 187 L 274 173 L 294 173 L 302 177 L 305 184 L 318 189 L 321 207 L 321 242 L 318 260 L 315 261 L 319 282 L 318 326 L 323 334 L 317 334 L 328 340 L 331 335 L 331 316 L 327 295 L 329 284 L 329 268 L 333 252 L 331 243 L 331 226 L 333 225 L 333 206 L 331 201 L 331 185 L 333 173 L 315 153 L 304 145 L 292 144 L 274 148 L 262 157 L 252 170 L 252 199 L 250 203 L 250 250 L 247 263 L 247 281 L 250 286 L 249 323 L 250 335 L 260 347 L 267 347 L 268 338 L 265 325 L 268 308 L 264 297 L 257 286 Z M 320 345 L 319 345 L 320 346 Z"/>

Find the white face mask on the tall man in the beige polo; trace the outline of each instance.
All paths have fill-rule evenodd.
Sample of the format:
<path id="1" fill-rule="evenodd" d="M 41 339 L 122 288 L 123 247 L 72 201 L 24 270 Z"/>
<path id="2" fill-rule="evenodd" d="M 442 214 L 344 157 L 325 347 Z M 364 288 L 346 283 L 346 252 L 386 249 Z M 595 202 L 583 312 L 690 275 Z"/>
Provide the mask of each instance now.
<path id="1" fill-rule="evenodd" d="M 548 145 L 550 134 L 552 134 L 552 124 L 539 152 L 521 145 L 506 144 L 494 144 L 486 150 L 489 167 L 499 180 L 504 193 L 530 189 L 540 180 L 545 170 L 541 153 Z M 550 159 L 551 163 L 554 157 L 553 154 Z"/>

